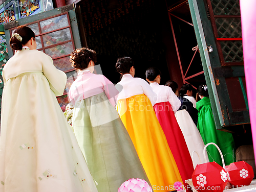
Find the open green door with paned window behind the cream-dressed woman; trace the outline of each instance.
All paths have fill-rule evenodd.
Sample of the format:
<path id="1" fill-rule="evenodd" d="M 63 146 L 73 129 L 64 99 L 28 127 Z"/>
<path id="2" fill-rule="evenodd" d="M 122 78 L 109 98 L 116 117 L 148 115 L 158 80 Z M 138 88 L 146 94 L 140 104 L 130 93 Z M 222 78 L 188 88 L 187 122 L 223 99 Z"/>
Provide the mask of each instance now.
<path id="1" fill-rule="evenodd" d="M 69 62 L 70 53 L 81 47 L 74 4 L 6 23 L 4 28 L 7 42 L 12 31 L 21 25 L 26 25 L 35 32 L 37 50 L 52 57 L 55 67 L 67 74 L 66 89 L 62 96 L 57 97 L 59 105 L 65 108 L 69 103 L 67 93 L 75 79 L 75 69 Z M 7 45 L 10 50 L 9 57 L 12 57 L 14 52 L 11 51 L 9 43 Z"/>

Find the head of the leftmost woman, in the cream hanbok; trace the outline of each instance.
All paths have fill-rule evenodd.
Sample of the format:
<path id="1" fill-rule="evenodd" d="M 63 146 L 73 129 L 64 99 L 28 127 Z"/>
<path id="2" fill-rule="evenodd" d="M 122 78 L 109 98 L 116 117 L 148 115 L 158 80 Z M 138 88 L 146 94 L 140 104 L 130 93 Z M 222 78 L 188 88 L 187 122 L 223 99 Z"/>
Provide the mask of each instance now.
<path id="1" fill-rule="evenodd" d="M 36 50 L 35 33 L 27 26 L 18 26 L 13 30 L 10 46 L 13 50 L 22 50 L 23 46 L 28 46 L 30 50 Z"/>

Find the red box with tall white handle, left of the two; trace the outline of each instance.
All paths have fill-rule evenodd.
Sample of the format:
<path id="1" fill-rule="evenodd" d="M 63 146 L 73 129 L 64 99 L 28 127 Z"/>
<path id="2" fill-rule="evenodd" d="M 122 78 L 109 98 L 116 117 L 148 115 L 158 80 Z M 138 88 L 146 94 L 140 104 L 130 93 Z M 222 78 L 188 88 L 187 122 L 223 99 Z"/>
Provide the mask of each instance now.
<path id="1" fill-rule="evenodd" d="M 206 162 L 198 164 L 192 175 L 192 181 L 197 191 L 222 192 L 227 185 L 227 173 L 225 171 L 225 162 L 220 148 L 213 142 L 207 143 L 204 147 L 204 159 L 206 161 L 206 148 L 209 145 L 215 145 L 221 154 L 221 167 L 216 162 Z"/>

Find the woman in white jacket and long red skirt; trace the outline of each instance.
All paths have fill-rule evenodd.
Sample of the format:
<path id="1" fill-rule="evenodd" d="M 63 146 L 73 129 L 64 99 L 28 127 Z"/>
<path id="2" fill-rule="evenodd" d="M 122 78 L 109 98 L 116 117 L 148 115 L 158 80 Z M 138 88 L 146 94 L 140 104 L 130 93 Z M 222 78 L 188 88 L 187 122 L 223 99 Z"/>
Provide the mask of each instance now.
<path id="1" fill-rule="evenodd" d="M 185 180 L 191 178 L 194 169 L 186 141 L 174 115 L 181 102 L 170 87 L 159 85 L 161 71 L 158 68 L 146 69 L 146 80 L 157 94 L 154 110 L 185 184 Z"/>

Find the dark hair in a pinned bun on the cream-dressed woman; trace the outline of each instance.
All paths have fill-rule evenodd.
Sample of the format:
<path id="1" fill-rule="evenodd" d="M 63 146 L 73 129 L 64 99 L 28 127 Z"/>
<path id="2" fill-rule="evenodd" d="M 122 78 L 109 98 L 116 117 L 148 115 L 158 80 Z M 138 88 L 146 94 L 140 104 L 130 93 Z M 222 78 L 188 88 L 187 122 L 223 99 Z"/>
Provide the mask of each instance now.
<path id="1" fill-rule="evenodd" d="M 23 45 L 27 44 L 27 42 L 31 39 L 35 39 L 35 33 L 27 26 L 18 26 L 13 33 L 17 33 L 20 37 L 22 37 L 22 41 L 17 39 L 17 36 L 13 36 L 10 39 L 10 46 L 13 50 L 22 50 Z"/>

